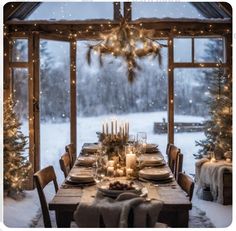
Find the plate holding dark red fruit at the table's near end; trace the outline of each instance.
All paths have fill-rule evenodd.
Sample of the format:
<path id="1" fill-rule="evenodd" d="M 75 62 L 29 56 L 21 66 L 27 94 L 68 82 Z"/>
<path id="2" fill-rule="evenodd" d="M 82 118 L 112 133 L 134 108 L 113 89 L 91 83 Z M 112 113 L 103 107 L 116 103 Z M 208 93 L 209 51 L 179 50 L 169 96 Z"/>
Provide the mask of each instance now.
<path id="1" fill-rule="evenodd" d="M 128 192 L 129 193 L 135 193 L 137 195 L 140 195 L 140 194 L 142 194 L 142 189 L 144 188 L 141 183 L 135 182 L 133 184 L 134 189 L 130 189 L 130 190 L 115 190 L 115 189 L 109 189 L 109 184 L 110 183 L 111 182 L 101 182 L 101 183 L 97 184 L 98 191 L 102 192 L 102 194 L 104 196 L 115 198 L 115 197 L 117 197 L 120 194 L 125 193 L 125 192 L 127 192 L 127 193 Z M 122 181 L 121 183 L 129 184 L 128 181 Z"/>

